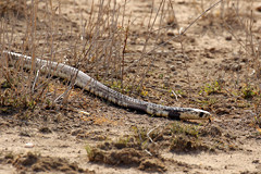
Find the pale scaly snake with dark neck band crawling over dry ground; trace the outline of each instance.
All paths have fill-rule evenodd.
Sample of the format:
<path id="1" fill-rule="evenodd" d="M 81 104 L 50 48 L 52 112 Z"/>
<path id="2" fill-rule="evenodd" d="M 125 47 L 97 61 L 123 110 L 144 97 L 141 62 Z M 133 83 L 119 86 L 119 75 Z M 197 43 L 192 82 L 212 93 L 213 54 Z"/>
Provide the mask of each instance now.
<path id="1" fill-rule="evenodd" d="M 153 116 L 164 116 L 171 120 L 210 121 L 211 117 L 210 112 L 201 109 L 166 107 L 128 97 L 103 85 L 83 71 L 64 63 L 58 63 L 38 58 L 33 59 L 32 57 L 13 51 L 3 50 L 2 52 L 13 60 L 22 60 L 22 66 L 24 69 L 32 70 L 32 63 L 34 61 L 36 70 L 39 70 L 42 73 L 50 73 L 64 79 L 72 79 L 74 76 L 75 86 L 78 86 L 90 94 L 94 94 L 95 96 L 109 100 L 110 102 L 126 109 L 141 111 Z"/>

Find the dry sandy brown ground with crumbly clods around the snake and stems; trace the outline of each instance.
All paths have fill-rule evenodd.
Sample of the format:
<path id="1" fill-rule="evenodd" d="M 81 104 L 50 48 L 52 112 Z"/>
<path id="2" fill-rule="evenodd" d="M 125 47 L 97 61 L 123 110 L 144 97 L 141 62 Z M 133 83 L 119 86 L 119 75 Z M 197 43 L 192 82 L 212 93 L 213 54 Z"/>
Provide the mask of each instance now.
<path id="1" fill-rule="evenodd" d="M 219 20 L 220 7 L 212 9 L 182 38 L 184 49 L 181 48 L 181 40 L 172 40 L 178 33 L 177 26 L 169 23 L 170 16 L 163 15 L 161 25 L 169 24 L 169 27 L 158 35 L 151 35 L 147 49 L 152 50 L 154 45 L 160 47 L 145 57 L 139 65 L 134 65 L 135 60 L 140 58 L 149 34 L 146 27 L 151 8 L 156 15 L 160 2 L 156 0 L 154 5 L 144 0 L 126 2 L 125 20 L 129 14 L 134 20 L 125 50 L 125 66 L 129 67 L 125 83 L 136 77 L 134 86 L 137 85 L 144 70 L 149 66 L 146 62 L 150 62 L 144 79 L 145 91 L 141 95 L 134 92 L 133 97 L 166 105 L 204 109 L 213 114 L 212 122 L 153 117 L 119 108 L 87 91 L 73 88 L 66 104 L 49 107 L 42 103 L 34 110 L 1 105 L 0 173 L 261 173 L 261 79 L 258 71 L 253 72 L 257 62 L 241 50 L 233 36 L 245 39 L 237 15 L 244 22 L 252 9 L 253 36 L 260 41 L 261 1 L 240 1 L 237 15 L 229 8 L 236 2 L 227 2 L 225 22 L 233 33 L 226 29 L 224 21 Z M 208 1 L 202 2 L 204 9 L 210 7 Z M 123 1 L 119 3 L 124 4 Z M 53 9 L 58 4 L 53 1 Z M 58 50 L 65 51 L 58 52 L 55 59 L 75 65 L 74 61 L 70 61 L 70 58 L 74 58 L 73 53 L 70 54 L 66 49 L 73 41 L 78 41 L 83 18 L 90 15 L 91 2 L 63 0 L 60 4 L 61 14 L 54 14 L 53 21 L 62 35 L 53 37 L 53 42 L 59 46 Z M 0 2 L 1 11 L 11 13 L 17 13 L 17 5 L 14 1 Z M 30 1 L 27 5 L 30 7 Z M 39 26 L 36 30 L 44 34 L 42 29 L 51 24 L 46 22 L 47 3 L 39 2 L 38 5 Z M 174 1 L 175 23 L 179 27 L 188 26 L 202 12 L 200 8 L 201 2 L 194 0 Z M 169 14 L 167 10 L 165 12 Z M 15 51 L 22 47 L 18 40 L 23 40 L 23 26 L 26 26 L 23 11 L 18 14 L 15 25 L 2 21 L 8 27 L 13 25 L 16 39 L 11 47 Z M 159 20 L 156 22 L 158 27 Z M 37 47 L 44 45 L 45 40 L 39 37 Z M 36 53 L 41 55 L 42 50 Z M 90 63 L 90 66 L 82 66 L 82 70 L 90 76 L 99 76 L 101 80 L 104 77 L 105 83 L 107 73 L 102 65 Z M 1 76 L 1 92 L 7 90 L 3 83 Z M 244 98 L 246 83 L 253 86 L 254 90 L 249 98 Z M 59 96 L 65 89 L 66 83 L 51 78 L 48 92 Z M 169 89 L 177 94 L 177 100 Z"/>

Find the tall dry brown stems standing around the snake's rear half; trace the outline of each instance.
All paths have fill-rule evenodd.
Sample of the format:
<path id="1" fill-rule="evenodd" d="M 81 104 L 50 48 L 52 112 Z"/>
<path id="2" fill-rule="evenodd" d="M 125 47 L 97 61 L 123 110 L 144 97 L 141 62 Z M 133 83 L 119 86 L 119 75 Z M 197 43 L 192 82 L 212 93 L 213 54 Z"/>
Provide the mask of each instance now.
<path id="1" fill-rule="evenodd" d="M 79 70 L 91 73 L 98 80 L 111 82 L 109 86 L 113 85 L 114 80 L 120 80 L 123 89 L 125 88 L 125 72 L 127 72 L 124 66 L 126 65 L 129 28 L 134 22 L 130 18 L 132 14 L 125 14 L 126 3 L 127 1 L 116 3 L 101 0 L 97 5 L 92 1 L 88 10 L 89 15 L 88 17 L 82 16 L 80 25 L 74 23 L 61 25 L 59 22 L 64 20 L 61 14 L 62 3 L 55 4 L 47 0 L 26 3 L 25 1 L 1 1 L 1 52 L 12 50 L 29 55 L 33 60 L 40 58 L 57 62 L 65 61 Z M 171 2 L 167 3 L 171 4 Z M 137 85 L 142 86 L 144 78 L 153 63 L 152 58 L 149 63 L 146 63 L 149 66 L 142 67 L 150 38 L 153 36 L 154 42 L 160 40 L 164 27 L 156 29 L 154 26 L 157 20 L 163 24 L 165 5 L 166 2 L 162 1 L 154 14 L 152 11 L 154 3 L 152 4 L 148 26 L 145 27 L 149 35 L 145 38 L 140 58 L 134 62 L 137 69 L 141 67 L 137 75 L 142 76 L 141 80 L 133 77 L 132 86 L 136 86 L 135 89 L 138 88 Z M 170 17 L 173 18 L 173 14 Z M 173 27 L 173 22 L 170 27 Z M 3 61 L 0 64 L 2 70 L 0 97 L 3 111 L 5 107 L 34 109 L 38 103 L 50 107 L 58 101 L 61 94 L 58 92 L 55 85 L 58 80 L 53 79 L 51 74 L 39 73 L 39 70 L 34 69 L 34 64 L 33 70 L 27 72 L 23 69 L 22 60 L 12 62 L 3 53 L 1 59 Z M 9 66 L 10 64 L 14 66 Z M 100 73 L 101 71 L 103 73 Z M 66 88 L 71 87 L 72 84 L 70 85 L 69 82 Z M 67 99 L 70 92 L 66 89 L 64 91 L 67 92 L 64 95 Z"/>

